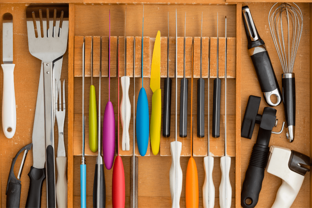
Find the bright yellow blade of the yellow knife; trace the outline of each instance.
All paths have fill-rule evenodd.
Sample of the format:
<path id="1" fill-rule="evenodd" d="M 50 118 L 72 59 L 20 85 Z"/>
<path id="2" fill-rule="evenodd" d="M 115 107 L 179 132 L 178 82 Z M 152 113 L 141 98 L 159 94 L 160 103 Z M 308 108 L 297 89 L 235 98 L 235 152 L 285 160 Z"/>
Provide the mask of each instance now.
<path id="1" fill-rule="evenodd" d="M 158 30 L 154 44 L 150 88 L 153 93 L 160 89 L 160 31 Z"/>

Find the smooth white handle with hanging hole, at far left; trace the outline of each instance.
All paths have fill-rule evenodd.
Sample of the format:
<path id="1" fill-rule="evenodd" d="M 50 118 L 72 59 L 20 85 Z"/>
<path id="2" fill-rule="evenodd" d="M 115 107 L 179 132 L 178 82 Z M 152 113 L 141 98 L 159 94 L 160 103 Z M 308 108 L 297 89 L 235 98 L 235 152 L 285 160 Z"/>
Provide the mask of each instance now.
<path id="1" fill-rule="evenodd" d="M 14 136 L 16 129 L 14 66 L 15 64 L 1 65 L 3 70 L 2 128 L 8 139 Z M 7 131 L 8 128 L 11 128 L 10 132 Z"/>

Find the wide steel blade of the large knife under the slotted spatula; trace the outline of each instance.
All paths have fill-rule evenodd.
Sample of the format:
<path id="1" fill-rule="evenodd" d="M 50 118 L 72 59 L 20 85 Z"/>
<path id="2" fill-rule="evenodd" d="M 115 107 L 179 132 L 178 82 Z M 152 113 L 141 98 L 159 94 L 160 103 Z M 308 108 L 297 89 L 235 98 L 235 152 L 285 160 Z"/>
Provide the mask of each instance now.
<path id="1" fill-rule="evenodd" d="M 54 77 L 56 80 L 61 78 L 63 57 L 54 63 Z M 55 91 L 55 90 L 53 90 Z M 57 90 L 58 91 L 58 90 Z M 46 162 L 46 145 L 45 145 L 45 131 L 44 131 L 44 99 L 43 99 L 43 65 L 41 62 L 37 103 L 34 119 L 34 127 L 32 129 L 32 156 L 33 167 L 44 168 Z M 56 95 L 57 96 L 57 95 Z M 55 97 L 56 97 L 55 96 Z M 55 117 L 55 115 L 54 115 Z"/>

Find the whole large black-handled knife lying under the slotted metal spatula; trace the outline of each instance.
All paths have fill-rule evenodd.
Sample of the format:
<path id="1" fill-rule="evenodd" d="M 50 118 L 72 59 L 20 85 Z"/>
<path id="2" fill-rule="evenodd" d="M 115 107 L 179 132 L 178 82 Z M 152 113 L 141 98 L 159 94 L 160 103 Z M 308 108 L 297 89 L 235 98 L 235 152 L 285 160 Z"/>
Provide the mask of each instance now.
<path id="1" fill-rule="evenodd" d="M 54 77 L 60 80 L 62 70 L 63 57 L 54 63 Z M 55 90 L 53 90 L 55 91 Z M 57 97 L 57 95 L 55 96 Z M 55 119 L 54 119 L 55 121 Z M 46 178 L 46 170 L 44 164 L 45 156 L 45 131 L 44 131 L 44 100 L 43 100 L 43 65 L 41 62 L 37 103 L 35 111 L 34 127 L 32 129 L 32 156 L 33 165 L 30 168 L 28 176 L 30 178 L 26 208 L 41 207 L 41 191 L 42 184 Z"/>

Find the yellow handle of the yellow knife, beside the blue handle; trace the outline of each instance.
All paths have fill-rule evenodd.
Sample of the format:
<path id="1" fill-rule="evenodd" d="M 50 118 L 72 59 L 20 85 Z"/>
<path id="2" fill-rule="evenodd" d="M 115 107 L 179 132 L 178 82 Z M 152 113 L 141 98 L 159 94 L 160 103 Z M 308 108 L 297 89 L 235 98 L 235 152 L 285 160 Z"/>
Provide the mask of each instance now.
<path id="1" fill-rule="evenodd" d="M 154 155 L 159 152 L 161 128 L 161 89 L 157 89 L 152 96 L 152 113 L 150 123 L 150 138 Z"/>

